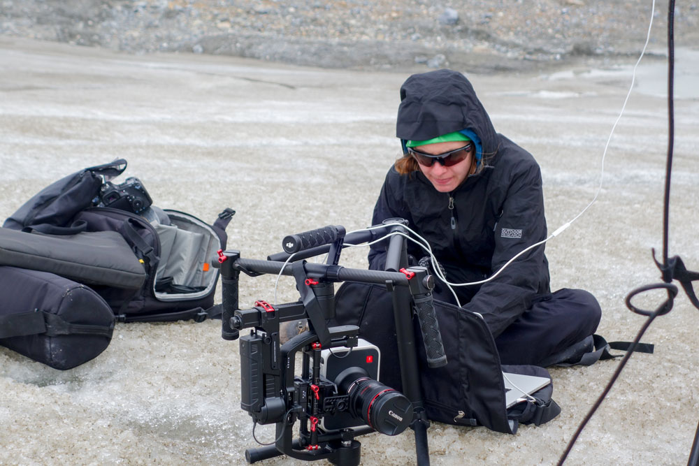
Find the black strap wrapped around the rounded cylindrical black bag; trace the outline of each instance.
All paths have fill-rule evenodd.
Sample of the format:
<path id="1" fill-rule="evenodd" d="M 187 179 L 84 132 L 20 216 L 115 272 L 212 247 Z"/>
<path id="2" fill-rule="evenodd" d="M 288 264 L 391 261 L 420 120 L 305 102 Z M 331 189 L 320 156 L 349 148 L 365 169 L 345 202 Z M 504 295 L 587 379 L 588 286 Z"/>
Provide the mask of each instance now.
<path id="1" fill-rule="evenodd" d="M 0 338 L 23 337 L 27 335 L 101 335 L 110 338 L 114 322 L 109 326 L 70 323 L 50 312 L 22 312 L 0 316 Z"/>

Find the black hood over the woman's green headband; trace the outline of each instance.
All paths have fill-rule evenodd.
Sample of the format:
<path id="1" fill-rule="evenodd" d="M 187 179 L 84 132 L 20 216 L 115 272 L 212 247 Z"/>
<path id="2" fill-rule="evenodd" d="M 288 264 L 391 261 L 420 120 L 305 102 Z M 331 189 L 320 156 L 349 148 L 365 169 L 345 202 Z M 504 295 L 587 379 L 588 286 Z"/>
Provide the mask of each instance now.
<path id="1" fill-rule="evenodd" d="M 405 140 L 427 140 L 453 131 L 462 131 L 474 140 L 479 160 L 481 154 L 497 150 L 495 128 L 463 74 L 438 70 L 405 80 L 396 121 L 403 152 Z"/>

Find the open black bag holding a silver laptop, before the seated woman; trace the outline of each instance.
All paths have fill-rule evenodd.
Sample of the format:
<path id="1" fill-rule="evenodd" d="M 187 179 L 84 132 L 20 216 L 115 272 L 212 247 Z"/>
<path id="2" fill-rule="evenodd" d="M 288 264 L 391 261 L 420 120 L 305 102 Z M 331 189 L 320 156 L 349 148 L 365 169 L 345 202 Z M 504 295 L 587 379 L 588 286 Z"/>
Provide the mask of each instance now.
<path id="1" fill-rule="evenodd" d="M 521 402 L 505 409 L 503 371 L 551 378 L 543 367 L 500 365 L 487 324 L 480 316 L 449 303 L 434 301 L 447 365 L 426 363 L 419 323 L 415 323 L 420 383 L 427 417 L 453 425 L 484 425 L 514 434 L 519 423 L 545 423 L 561 409 L 549 384 L 533 393 L 537 403 Z M 380 381 L 402 389 L 391 293 L 376 284 L 344 283 L 336 293 L 336 321 L 359 326 L 359 336 L 381 351 Z"/>

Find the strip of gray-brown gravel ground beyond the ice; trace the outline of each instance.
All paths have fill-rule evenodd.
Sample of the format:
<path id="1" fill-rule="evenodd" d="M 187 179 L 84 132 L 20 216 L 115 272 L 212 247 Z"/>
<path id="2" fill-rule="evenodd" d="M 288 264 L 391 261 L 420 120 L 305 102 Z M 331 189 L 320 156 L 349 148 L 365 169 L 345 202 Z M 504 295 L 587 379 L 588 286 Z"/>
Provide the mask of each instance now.
<path id="1" fill-rule="evenodd" d="M 0 35 L 131 53 L 228 54 L 326 68 L 522 71 L 637 56 L 651 1 L 0 0 Z M 665 43 L 656 4 L 651 45 Z M 675 10 L 678 45 L 699 3 Z"/>

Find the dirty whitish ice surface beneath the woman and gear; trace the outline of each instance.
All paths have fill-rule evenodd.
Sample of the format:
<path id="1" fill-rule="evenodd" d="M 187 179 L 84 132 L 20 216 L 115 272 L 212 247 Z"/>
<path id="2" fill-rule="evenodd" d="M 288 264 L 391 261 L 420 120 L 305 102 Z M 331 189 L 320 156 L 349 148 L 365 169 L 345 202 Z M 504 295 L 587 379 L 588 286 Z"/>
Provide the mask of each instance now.
<path id="1" fill-rule="evenodd" d="M 49 182 L 123 156 L 127 175 L 138 176 L 159 207 L 207 221 L 236 209 L 229 245 L 262 259 L 289 233 L 368 226 L 400 150 L 394 115 L 402 74 L 10 40 L 0 44 L 0 62 L 0 218 Z M 662 87 L 661 75 L 643 76 Z M 496 129 L 540 162 L 553 231 L 596 192 L 628 68 L 470 78 Z M 685 94 L 675 110 L 670 249 L 696 270 L 696 96 Z M 598 202 L 547 244 L 552 286 L 592 291 L 603 305 L 599 331 L 610 341 L 633 339 L 643 322 L 626 310 L 626 293 L 659 279 L 650 249 L 661 248 L 666 144 L 665 101 L 633 94 Z M 343 265 L 363 267 L 365 257 L 366 250 L 348 251 Z M 240 305 L 273 293 L 274 277 L 243 277 Z M 289 279 L 278 296 L 298 297 Z M 686 463 L 699 420 L 698 321 L 684 296 L 656 319 L 644 337 L 656 354 L 630 360 L 566 464 Z M 552 370 L 561 415 L 512 437 L 433 423 L 432 464 L 555 464 L 615 367 Z M 0 393 L 0 464 L 240 464 L 254 446 L 250 417 L 239 408 L 238 344 L 222 340 L 215 321 L 117 324 L 103 354 L 66 372 L 0 348 Z M 273 436 L 268 427 L 258 434 Z M 363 464 L 415 464 L 410 431 L 361 441 Z"/>

